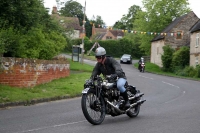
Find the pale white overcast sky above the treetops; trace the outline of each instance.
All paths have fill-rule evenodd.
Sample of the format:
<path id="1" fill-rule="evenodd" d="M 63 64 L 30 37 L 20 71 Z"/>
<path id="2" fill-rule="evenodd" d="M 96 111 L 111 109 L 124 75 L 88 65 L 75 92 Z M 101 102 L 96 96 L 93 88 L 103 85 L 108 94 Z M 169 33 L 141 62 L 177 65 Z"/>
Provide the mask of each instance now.
<path id="1" fill-rule="evenodd" d="M 59 0 L 65 2 L 68 0 Z M 85 6 L 86 1 L 86 15 L 89 20 L 93 16 L 101 16 L 102 20 L 106 23 L 106 26 L 113 26 L 115 22 L 120 20 L 124 14 L 128 14 L 128 9 L 132 5 L 138 5 L 143 7 L 142 0 L 74 0 Z M 189 7 L 200 18 L 200 6 L 199 0 L 188 0 Z M 53 6 L 57 6 L 56 0 L 44 0 L 44 6 L 52 9 Z"/>

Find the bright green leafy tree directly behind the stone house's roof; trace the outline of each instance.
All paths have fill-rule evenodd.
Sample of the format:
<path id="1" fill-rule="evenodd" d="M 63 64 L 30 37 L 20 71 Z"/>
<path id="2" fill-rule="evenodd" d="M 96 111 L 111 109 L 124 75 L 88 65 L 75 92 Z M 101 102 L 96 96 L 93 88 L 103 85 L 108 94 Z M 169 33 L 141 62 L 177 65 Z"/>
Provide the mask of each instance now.
<path id="1" fill-rule="evenodd" d="M 143 0 L 145 11 L 140 11 L 134 25 L 136 30 L 145 32 L 161 32 L 172 20 L 188 13 L 188 0 Z M 154 36 L 141 35 L 140 48 L 150 54 L 150 41 Z"/>

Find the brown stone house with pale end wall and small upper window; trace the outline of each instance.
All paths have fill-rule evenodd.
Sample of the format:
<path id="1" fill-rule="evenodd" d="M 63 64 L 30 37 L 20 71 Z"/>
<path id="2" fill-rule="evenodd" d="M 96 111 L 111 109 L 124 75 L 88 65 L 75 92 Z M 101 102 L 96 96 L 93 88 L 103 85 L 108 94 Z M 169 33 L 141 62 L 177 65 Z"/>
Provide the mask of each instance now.
<path id="1" fill-rule="evenodd" d="M 163 46 L 170 45 L 174 49 L 190 45 L 190 28 L 199 20 L 196 14 L 191 11 L 173 20 L 160 35 L 151 41 L 150 62 L 162 67 L 161 56 Z"/>

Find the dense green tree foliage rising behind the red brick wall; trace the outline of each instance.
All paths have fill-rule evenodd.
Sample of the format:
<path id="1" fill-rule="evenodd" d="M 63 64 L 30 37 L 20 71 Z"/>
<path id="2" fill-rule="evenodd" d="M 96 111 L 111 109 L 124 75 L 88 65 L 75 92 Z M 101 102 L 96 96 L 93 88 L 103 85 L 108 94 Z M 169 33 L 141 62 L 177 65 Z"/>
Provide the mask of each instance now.
<path id="1" fill-rule="evenodd" d="M 66 45 L 42 0 L 3 0 L 0 20 L 0 55 L 5 57 L 51 59 Z"/>

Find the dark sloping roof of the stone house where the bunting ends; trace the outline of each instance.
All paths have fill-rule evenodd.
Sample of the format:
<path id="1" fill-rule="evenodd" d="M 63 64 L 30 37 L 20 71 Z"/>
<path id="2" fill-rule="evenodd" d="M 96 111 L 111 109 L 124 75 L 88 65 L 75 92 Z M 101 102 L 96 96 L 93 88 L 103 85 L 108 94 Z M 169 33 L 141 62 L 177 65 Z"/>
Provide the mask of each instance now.
<path id="1" fill-rule="evenodd" d="M 176 18 L 173 22 L 171 22 L 161 33 L 167 33 L 167 32 L 170 32 L 179 22 L 181 22 L 181 20 L 186 17 L 187 14 L 179 17 L 179 18 Z M 153 41 L 158 41 L 158 40 L 161 40 L 161 39 L 164 39 L 164 36 L 163 35 L 158 35 L 156 36 L 151 42 Z"/>

